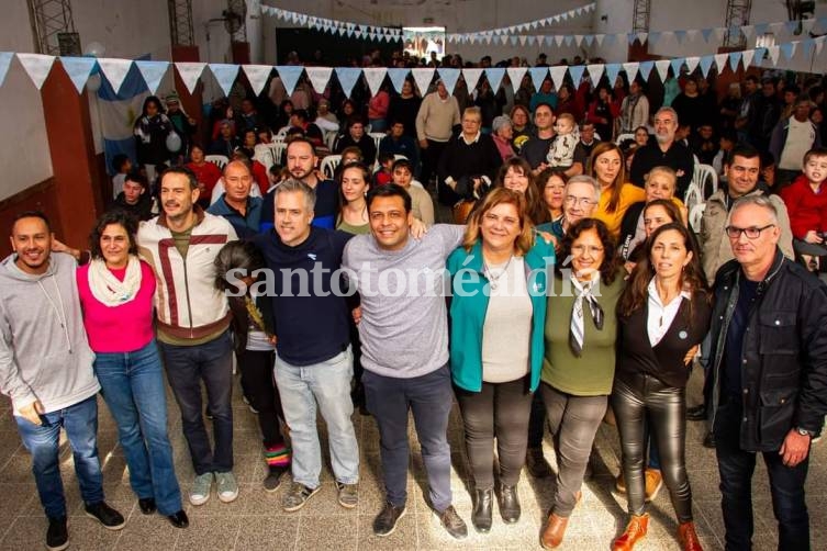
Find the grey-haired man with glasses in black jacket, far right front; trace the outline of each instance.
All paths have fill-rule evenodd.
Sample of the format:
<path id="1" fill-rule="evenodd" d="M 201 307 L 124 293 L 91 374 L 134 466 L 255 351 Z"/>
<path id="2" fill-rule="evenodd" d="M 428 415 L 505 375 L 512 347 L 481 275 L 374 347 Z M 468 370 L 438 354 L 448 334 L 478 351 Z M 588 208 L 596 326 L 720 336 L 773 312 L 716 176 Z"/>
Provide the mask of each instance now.
<path id="1" fill-rule="evenodd" d="M 765 196 L 741 198 L 726 233 L 735 260 L 715 279 L 707 385 L 726 548 L 751 548 L 760 452 L 779 549 L 809 549 L 804 483 L 827 413 L 827 288 L 781 254 L 778 213 Z"/>

